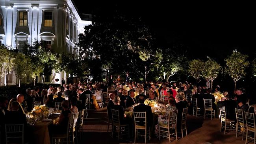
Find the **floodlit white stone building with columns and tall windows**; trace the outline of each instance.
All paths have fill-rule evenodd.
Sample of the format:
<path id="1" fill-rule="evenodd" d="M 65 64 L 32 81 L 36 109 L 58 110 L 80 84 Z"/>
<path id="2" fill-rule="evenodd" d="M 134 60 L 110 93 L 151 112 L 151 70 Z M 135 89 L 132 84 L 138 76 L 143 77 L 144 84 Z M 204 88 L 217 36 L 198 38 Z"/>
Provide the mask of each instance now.
<path id="1" fill-rule="evenodd" d="M 19 51 L 24 43 L 38 40 L 55 52 L 74 53 L 72 47 L 78 42 L 78 34 L 89 24 L 91 21 L 80 18 L 72 0 L 0 0 L 0 41 Z M 45 76 L 45 83 L 61 83 L 65 75 L 65 72 L 56 74 L 58 82 Z M 28 75 L 22 81 L 30 83 L 31 78 Z M 0 85 L 17 82 L 13 72 L 8 79 L 6 74 Z"/>

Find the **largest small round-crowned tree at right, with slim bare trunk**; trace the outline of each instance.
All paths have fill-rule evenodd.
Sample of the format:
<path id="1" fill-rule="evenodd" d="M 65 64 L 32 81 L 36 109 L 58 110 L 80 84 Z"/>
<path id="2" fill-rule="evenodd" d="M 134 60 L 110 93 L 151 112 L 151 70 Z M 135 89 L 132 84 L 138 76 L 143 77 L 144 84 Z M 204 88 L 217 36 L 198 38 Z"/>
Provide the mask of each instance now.
<path id="1" fill-rule="evenodd" d="M 235 83 L 245 75 L 245 68 L 248 67 L 249 62 L 246 61 L 248 55 L 243 55 L 240 52 L 234 51 L 232 55 L 228 56 L 224 61 L 226 62 L 226 72 L 231 76 Z"/>

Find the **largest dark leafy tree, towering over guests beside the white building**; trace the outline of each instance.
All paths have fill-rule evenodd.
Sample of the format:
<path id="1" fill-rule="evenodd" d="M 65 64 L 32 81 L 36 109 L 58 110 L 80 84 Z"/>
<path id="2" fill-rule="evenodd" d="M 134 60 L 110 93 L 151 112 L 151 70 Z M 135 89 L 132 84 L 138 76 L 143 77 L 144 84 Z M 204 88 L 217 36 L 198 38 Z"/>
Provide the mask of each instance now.
<path id="1" fill-rule="evenodd" d="M 85 26 L 84 33 L 79 35 L 76 47 L 83 61 L 88 58 L 93 62 L 98 57 L 96 61 L 111 66 L 108 69 L 113 74 L 124 76 L 128 71 L 131 78 L 147 79 L 155 63 L 156 47 L 150 30 L 139 18 L 121 15 L 96 17 L 92 25 Z"/>

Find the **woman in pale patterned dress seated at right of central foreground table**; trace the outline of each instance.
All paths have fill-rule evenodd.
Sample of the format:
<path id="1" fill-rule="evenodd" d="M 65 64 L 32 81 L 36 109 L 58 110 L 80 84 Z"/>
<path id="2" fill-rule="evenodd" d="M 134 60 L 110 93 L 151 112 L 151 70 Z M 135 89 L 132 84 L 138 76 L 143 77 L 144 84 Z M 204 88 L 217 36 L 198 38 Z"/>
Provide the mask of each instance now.
<path id="1" fill-rule="evenodd" d="M 169 112 L 172 112 L 172 111 L 176 111 L 176 110 L 177 110 L 177 109 L 176 109 L 176 106 L 175 106 L 175 104 L 174 104 L 175 100 L 174 100 L 173 97 L 170 97 L 168 102 L 169 102 L 169 105 L 168 105 L 168 107 L 167 107 L 167 110 L 166 110 L 165 114 L 164 114 L 164 115 L 159 115 L 159 117 L 158 117 L 158 122 L 159 122 L 159 124 L 165 124 L 165 125 L 167 125 L 167 124 L 168 124 L 168 121 L 169 121 Z M 175 126 L 175 124 L 173 124 L 172 127 L 174 127 L 174 126 Z"/>

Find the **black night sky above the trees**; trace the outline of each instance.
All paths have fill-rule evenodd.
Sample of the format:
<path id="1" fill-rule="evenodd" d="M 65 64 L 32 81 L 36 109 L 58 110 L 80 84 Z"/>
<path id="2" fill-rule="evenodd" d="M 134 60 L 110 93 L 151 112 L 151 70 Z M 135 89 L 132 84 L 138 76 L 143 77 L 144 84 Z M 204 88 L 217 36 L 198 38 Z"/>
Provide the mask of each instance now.
<path id="1" fill-rule="evenodd" d="M 113 4 L 74 0 L 79 13 L 102 15 L 118 11 L 124 15 L 141 17 L 152 29 L 158 46 L 172 46 L 178 41 L 186 46 L 192 58 L 206 59 L 207 55 L 223 63 L 234 49 L 256 55 L 255 11 L 250 4 L 187 4 L 137 2 Z M 203 6 L 204 5 L 204 6 Z M 251 5 L 252 6 L 252 5 Z"/>

